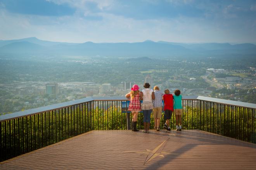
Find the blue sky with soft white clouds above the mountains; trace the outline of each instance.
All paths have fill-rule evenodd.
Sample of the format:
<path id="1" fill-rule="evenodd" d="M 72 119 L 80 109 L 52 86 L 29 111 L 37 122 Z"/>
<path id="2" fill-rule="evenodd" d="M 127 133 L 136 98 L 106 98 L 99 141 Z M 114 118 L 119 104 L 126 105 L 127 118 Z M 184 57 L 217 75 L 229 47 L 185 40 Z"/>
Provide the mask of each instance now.
<path id="1" fill-rule="evenodd" d="M 0 39 L 256 43 L 256 0 L 0 0 Z"/>

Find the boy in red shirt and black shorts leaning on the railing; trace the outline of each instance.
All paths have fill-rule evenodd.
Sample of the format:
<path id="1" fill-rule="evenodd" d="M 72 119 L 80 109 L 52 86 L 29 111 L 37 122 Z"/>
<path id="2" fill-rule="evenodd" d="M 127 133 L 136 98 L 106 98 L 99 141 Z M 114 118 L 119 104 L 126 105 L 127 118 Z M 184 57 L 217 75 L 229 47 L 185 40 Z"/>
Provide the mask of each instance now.
<path id="1" fill-rule="evenodd" d="M 164 100 L 164 120 L 166 120 L 164 124 L 164 129 L 171 131 L 170 128 L 170 119 L 173 113 L 173 95 L 170 94 L 168 89 L 164 90 L 163 100 Z"/>

